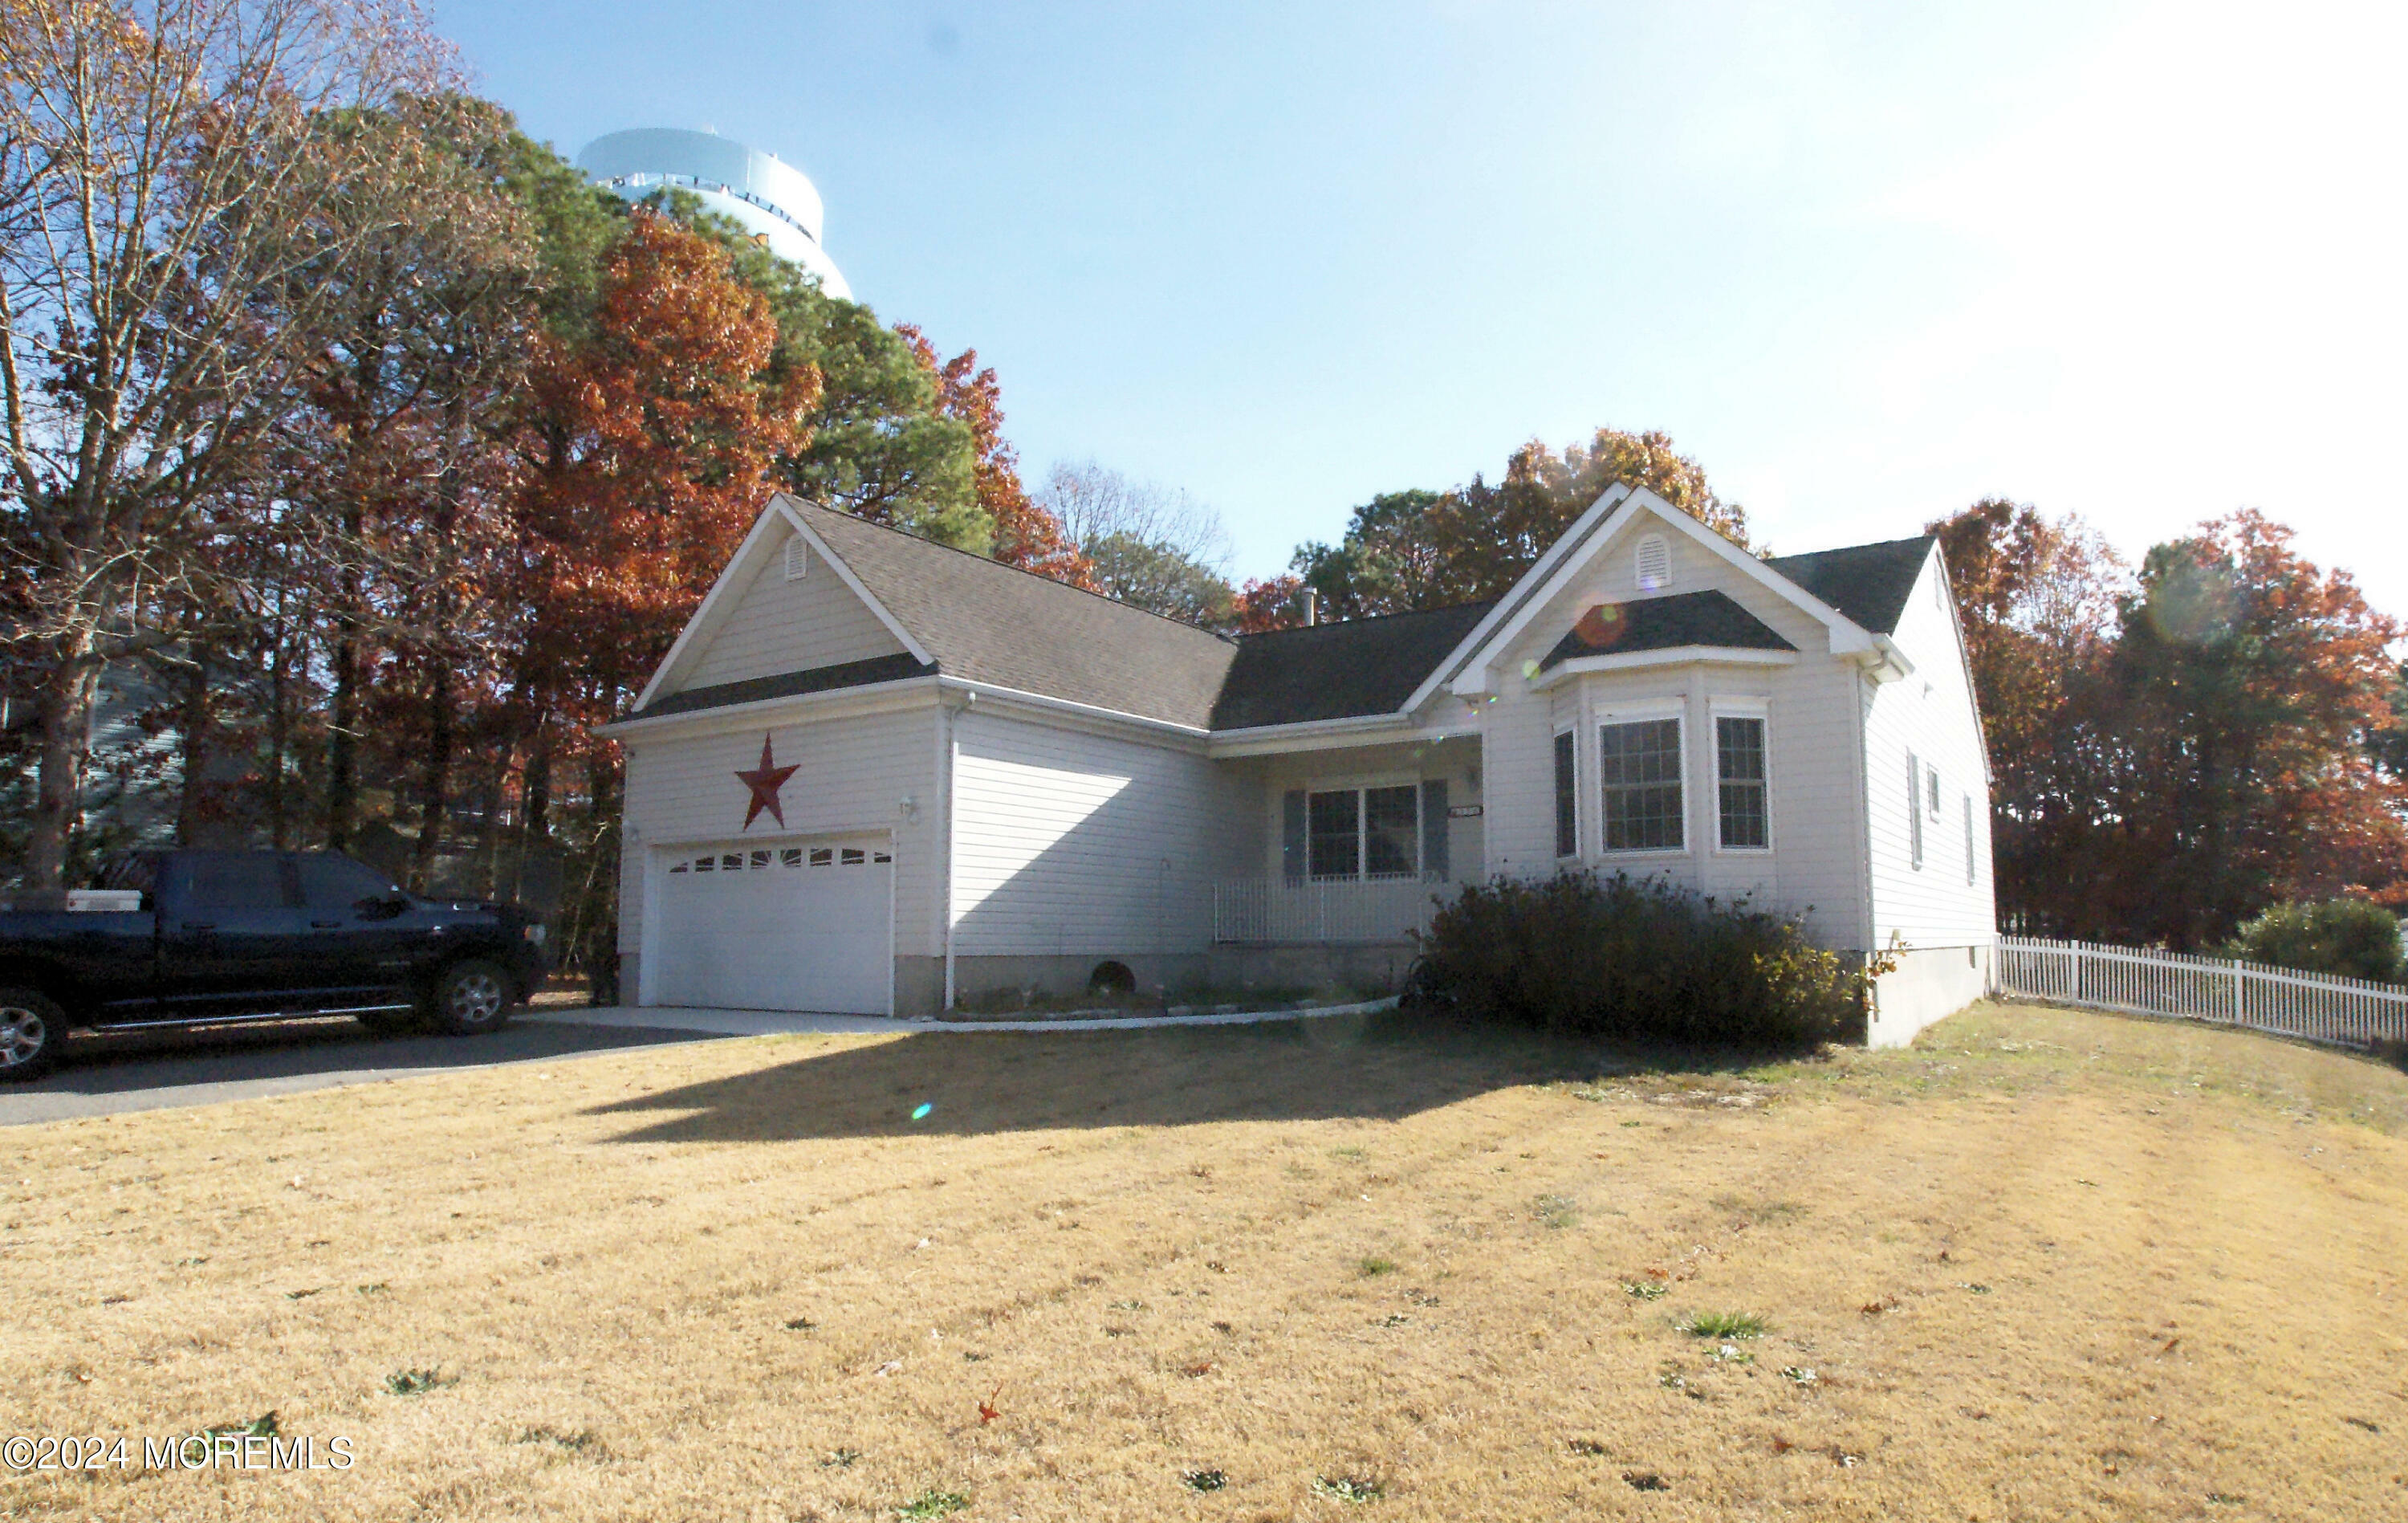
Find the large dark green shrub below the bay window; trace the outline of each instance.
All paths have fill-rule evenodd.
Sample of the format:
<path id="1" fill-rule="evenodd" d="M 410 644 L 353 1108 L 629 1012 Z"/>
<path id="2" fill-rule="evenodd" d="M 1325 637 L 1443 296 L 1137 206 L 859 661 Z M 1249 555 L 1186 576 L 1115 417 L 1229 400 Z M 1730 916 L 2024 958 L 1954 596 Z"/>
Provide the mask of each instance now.
<path id="1" fill-rule="evenodd" d="M 1813 1046 L 1864 1019 L 1864 969 L 1794 918 L 1623 872 L 1466 884 L 1418 940 L 1411 1002 L 1544 1031 Z"/>

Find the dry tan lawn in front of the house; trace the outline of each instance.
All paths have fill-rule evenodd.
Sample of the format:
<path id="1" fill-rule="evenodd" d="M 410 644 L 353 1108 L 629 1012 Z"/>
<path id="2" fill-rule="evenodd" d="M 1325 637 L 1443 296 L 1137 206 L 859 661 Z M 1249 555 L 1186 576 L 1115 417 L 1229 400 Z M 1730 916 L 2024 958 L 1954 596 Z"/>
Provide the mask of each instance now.
<path id="1" fill-rule="evenodd" d="M 1621 1063 L 761 1039 L 10 1130 L 7 1429 L 359 1458 L 0 1513 L 2408 1516 L 2408 1075 L 2030 1007 Z"/>

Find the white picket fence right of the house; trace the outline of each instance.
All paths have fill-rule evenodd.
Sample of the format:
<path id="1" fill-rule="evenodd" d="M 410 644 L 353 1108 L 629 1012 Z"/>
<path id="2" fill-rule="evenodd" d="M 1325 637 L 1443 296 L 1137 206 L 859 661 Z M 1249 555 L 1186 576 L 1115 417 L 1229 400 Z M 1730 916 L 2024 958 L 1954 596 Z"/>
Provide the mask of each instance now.
<path id="1" fill-rule="evenodd" d="M 1999 937 L 2001 993 L 2129 1015 L 2179 1015 L 2304 1041 L 2408 1041 L 2408 988 L 2254 962 Z"/>

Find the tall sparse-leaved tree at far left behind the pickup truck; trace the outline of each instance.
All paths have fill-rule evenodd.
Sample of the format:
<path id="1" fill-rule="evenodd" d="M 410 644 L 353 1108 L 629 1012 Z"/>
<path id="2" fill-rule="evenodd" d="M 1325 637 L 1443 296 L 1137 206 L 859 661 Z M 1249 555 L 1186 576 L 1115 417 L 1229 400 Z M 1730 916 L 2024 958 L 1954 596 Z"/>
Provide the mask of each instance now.
<path id="1" fill-rule="evenodd" d="M 205 506 L 255 475 L 320 349 L 325 308 L 265 323 L 260 292 L 407 214 L 330 214 L 385 149 L 320 123 L 438 75 L 400 0 L 0 12 L 0 554 L 39 728 L 34 887 L 63 882 L 101 668 L 217 600 Z"/>

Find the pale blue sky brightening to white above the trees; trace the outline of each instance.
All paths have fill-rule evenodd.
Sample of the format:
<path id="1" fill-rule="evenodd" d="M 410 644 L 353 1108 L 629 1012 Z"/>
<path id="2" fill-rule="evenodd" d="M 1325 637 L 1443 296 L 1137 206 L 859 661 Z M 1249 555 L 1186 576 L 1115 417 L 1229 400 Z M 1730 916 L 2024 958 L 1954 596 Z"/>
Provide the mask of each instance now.
<path id="1" fill-rule="evenodd" d="M 438 0 L 576 152 L 799 164 L 978 347 L 1279 571 L 1375 492 L 1659 427 L 1816 549 L 1984 494 L 2259 506 L 2408 615 L 2408 7 Z"/>

